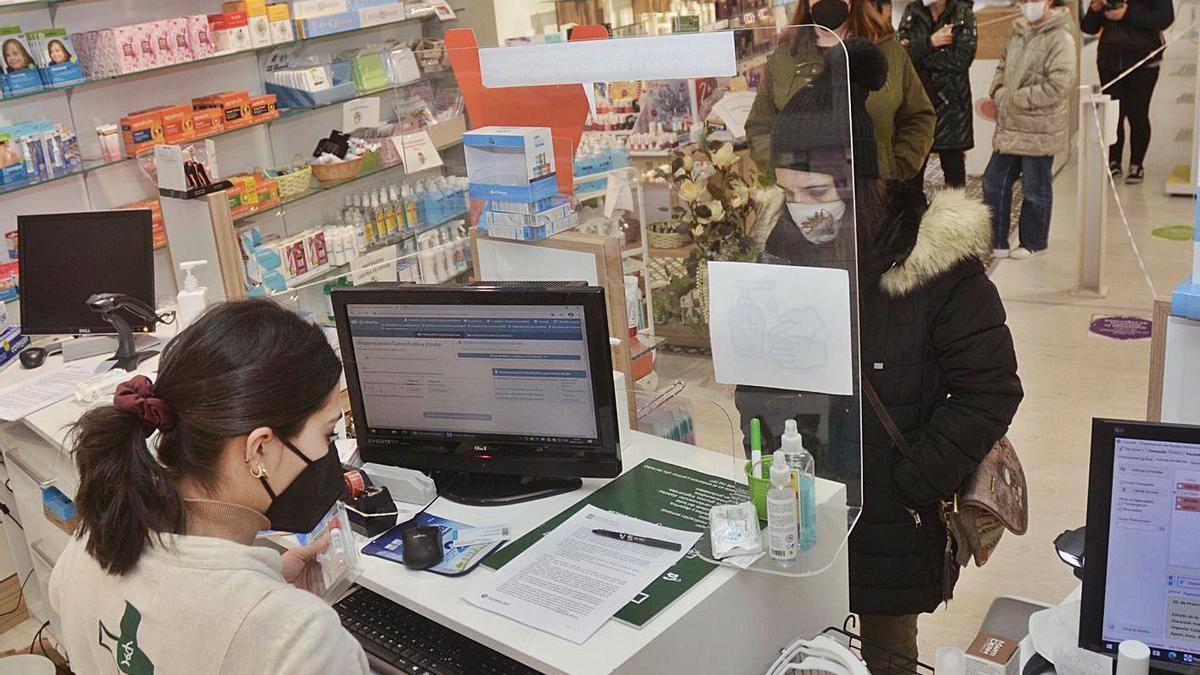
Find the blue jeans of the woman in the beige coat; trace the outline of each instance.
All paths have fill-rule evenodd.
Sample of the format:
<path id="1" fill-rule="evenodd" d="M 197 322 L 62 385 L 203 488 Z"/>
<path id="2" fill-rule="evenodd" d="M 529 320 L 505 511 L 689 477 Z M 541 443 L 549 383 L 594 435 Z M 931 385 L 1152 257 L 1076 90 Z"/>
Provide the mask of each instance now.
<path id="1" fill-rule="evenodd" d="M 1050 209 L 1054 205 L 1054 157 L 1025 157 L 992 153 L 983 172 L 983 201 L 991 209 L 991 246 L 1008 249 L 1013 214 L 1013 185 L 1021 179 L 1021 247 L 1040 251 L 1050 245 Z"/>

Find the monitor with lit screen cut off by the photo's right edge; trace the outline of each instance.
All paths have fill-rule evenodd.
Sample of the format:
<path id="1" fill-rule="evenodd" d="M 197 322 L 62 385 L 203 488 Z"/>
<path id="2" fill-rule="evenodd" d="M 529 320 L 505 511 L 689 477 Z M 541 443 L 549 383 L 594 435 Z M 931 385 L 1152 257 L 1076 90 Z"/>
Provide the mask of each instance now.
<path id="1" fill-rule="evenodd" d="M 1200 673 L 1200 426 L 1096 419 L 1080 646 Z"/>

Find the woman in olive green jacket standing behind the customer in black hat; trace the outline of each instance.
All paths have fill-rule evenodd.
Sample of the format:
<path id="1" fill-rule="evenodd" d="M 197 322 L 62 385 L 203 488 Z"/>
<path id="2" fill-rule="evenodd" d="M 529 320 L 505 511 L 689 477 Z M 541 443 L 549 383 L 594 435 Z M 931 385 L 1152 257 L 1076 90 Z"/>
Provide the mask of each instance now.
<path id="1" fill-rule="evenodd" d="M 847 6 L 840 12 L 829 11 L 841 5 Z M 817 11 L 809 5 L 809 0 L 800 0 L 793 25 L 824 25 L 842 38 L 853 35 L 868 37 L 887 56 L 887 83 L 866 98 L 866 110 L 875 125 L 878 144 L 880 178 L 907 180 L 916 177 L 934 144 L 937 117 L 912 60 L 895 40 L 892 24 L 869 0 L 822 0 L 815 6 Z M 775 115 L 821 72 L 822 53 L 827 47 L 818 44 L 814 32 L 806 28 L 793 29 L 791 38 L 784 40 L 775 49 L 767 61 L 767 72 L 746 119 L 751 156 L 760 171 L 772 178 L 770 133 Z M 850 144 L 848 138 L 846 144 Z"/>

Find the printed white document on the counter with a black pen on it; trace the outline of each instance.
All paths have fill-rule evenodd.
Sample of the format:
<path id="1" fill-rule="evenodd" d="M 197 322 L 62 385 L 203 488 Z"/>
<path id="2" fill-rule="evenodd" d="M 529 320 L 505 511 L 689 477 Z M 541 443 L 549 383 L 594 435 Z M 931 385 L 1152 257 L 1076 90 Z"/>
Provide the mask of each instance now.
<path id="1" fill-rule="evenodd" d="M 680 550 L 610 539 L 593 530 L 674 542 Z M 691 550 L 700 536 L 589 504 L 463 598 L 582 645 Z"/>

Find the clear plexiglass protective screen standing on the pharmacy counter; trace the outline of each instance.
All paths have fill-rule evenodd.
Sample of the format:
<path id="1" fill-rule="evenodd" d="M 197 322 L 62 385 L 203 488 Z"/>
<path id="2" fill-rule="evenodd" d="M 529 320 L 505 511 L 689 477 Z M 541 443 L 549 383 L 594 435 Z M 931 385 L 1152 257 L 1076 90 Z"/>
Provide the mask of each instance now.
<path id="1" fill-rule="evenodd" d="M 707 530 L 695 557 L 794 577 L 845 565 L 863 501 L 846 52 L 817 26 L 637 32 L 373 47 L 391 83 L 380 124 L 343 130 L 371 166 L 320 186 L 340 191 L 323 217 L 354 252 L 251 286 L 329 322 L 337 285 L 601 285 L 626 470 L 691 464 L 737 485 L 727 501 L 755 504 L 758 527 L 773 452 L 797 472 L 794 560 L 722 556 Z M 794 76 L 767 77 L 780 68 Z"/>

